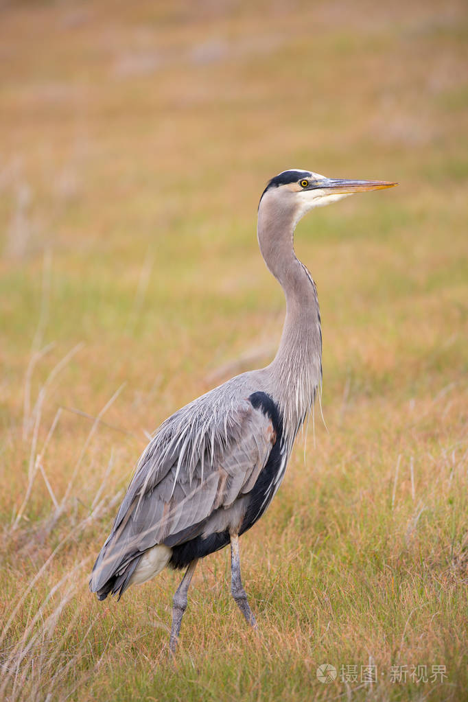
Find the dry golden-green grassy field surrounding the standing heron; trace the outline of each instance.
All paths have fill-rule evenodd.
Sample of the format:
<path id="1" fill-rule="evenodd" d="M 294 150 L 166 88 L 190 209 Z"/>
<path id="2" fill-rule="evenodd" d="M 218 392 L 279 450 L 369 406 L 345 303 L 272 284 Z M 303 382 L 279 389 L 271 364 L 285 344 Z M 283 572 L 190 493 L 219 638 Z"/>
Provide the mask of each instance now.
<path id="1" fill-rule="evenodd" d="M 466 698 L 467 29 L 447 0 L 4 4 L 1 699 Z M 328 430 L 241 539 L 260 635 L 220 552 L 172 663 L 180 575 L 119 603 L 88 575 L 148 432 L 274 354 L 255 217 L 290 167 L 401 185 L 297 228 Z"/>

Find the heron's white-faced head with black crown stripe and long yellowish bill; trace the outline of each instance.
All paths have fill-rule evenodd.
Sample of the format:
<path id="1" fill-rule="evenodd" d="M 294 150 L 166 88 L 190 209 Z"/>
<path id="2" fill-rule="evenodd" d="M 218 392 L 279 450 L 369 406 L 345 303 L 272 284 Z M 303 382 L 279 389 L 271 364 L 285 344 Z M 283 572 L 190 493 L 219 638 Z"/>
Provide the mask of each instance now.
<path id="1" fill-rule="evenodd" d="M 320 173 L 291 169 L 279 173 L 269 181 L 260 198 L 260 206 L 272 207 L 288 213 L 294 223 L 313 207 L 321 207 L 348 197 L 356 192 L 382 190 L 398 183 L 385 180 L 349 180 L 326 178 Z"/>

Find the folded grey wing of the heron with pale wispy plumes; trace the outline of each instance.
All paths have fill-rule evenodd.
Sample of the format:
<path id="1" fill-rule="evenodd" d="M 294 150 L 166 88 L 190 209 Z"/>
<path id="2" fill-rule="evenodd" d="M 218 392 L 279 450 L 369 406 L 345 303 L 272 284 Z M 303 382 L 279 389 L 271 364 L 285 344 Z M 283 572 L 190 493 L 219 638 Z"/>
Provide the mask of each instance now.
<path id="1" fill-rule="evenodd" d="M 152 546 L 198 536 L 214 510 L 229 508 L 255 485 L 276 441 L 272 420 L 248 399 L 222 403 L 210 395 L 166 420 L 147 446 L 95 563 L 91 590 Z"/>

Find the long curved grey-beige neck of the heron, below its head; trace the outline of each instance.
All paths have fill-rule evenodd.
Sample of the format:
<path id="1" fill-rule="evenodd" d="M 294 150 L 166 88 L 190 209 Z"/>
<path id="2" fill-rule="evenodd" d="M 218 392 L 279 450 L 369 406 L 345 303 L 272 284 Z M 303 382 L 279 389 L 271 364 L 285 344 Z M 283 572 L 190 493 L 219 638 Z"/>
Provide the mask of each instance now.
<path id="1" fill-rule="evenodd" d="M 263 200 L 262 200 L 263 203 Z M 293 438 L 321 383 L 321 330 L 316 286 L 294 252 L 295 215 L 271 199 L 260 203 L 258 243 L 286 297 L 286 319 L 269 370 Z"/>

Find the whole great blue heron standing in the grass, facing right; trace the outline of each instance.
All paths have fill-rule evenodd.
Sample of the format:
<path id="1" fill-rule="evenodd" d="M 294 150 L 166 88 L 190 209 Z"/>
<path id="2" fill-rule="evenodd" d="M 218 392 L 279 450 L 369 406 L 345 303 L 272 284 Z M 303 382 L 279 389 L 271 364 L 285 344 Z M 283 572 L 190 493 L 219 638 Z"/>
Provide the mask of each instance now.
<path id="1" fill-rule="evenodd" d="M 182 407 L 142 453 L 114 526 L 95 562 L 90 588 L 104 600 L 166 566 L 187 567 L 173 597 L 175 651 L 187 591 L 199 558 L 231 544 L 231 592 L 256 626 L 241 582 L 239 536 L 276 494 L 291 449 L 321 383 L 321 329 L 315 283 L 295 256 L 293 232 L 307 211 L 342 197 L 392 187 L 312 171 L 272 178 L 258 206 L 258 243 L 286 296 L 276 357 Z"/>

